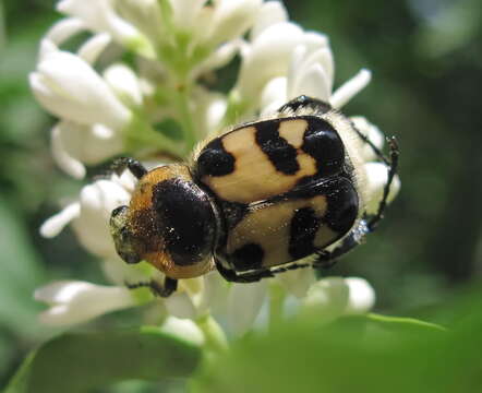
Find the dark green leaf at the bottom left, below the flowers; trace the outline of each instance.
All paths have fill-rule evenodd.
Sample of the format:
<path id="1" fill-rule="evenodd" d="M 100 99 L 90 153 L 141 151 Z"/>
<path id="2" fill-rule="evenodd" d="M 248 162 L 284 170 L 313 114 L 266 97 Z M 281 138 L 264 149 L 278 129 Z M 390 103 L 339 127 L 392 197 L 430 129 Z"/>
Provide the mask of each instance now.
<path id="1" fill-rule="evenodd" d="M 189 377 L 201 348 L 158 327 L 68 333 L 31 354 L 4 393 L 86 392 L 124 380 Z"/>

